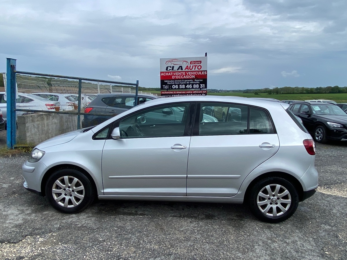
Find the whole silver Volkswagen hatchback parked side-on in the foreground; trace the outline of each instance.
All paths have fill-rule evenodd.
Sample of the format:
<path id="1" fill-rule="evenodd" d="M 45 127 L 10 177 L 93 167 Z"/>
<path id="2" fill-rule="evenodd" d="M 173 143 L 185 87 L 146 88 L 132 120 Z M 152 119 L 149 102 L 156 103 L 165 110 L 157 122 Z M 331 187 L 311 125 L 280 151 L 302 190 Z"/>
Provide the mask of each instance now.
<path id="1" fill-rule="evenodd" d="M 227 116 L 205 120 L 211 106 Z M 64 213 L 95 198 L 245 202 L 260 220 L 280 222 L 318 187 L 314 141 L 287 107 L 238 97 L 154 99 L 37 145 L 22 166 L 24 187 Z"/>

